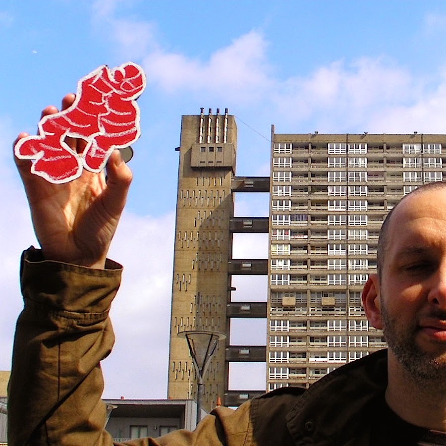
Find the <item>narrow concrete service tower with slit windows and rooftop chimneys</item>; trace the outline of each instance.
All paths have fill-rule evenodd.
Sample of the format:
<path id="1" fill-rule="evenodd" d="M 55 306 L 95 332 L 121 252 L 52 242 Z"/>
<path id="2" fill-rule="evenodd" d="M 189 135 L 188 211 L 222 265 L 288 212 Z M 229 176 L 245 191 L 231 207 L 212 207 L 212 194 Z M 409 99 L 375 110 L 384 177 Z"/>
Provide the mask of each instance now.
<path id="1" fill-rule="evenodd" d="M 196 399 L 196 377 L 187 343 L 178 333 L 227 333 L 228 259 L 233 216 L 237 126 L 227 114 L 183 116 L 175 225 L 168 397 Z M 204 377 L 203 407 L 211 410 L 227 383 L 220 342 Z"/>

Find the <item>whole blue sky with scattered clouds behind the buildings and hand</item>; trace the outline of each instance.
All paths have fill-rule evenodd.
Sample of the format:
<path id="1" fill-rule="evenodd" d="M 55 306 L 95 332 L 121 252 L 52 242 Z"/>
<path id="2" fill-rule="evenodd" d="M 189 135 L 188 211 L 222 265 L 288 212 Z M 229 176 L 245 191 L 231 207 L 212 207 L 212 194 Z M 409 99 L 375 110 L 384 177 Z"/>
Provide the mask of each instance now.
<path id="1" fill-rule="evenodd" d="M 11 142 L 34 132 L 40 111 L 80 77 L 128 60 L 148 77 L 134 183 L 111 250 L 125 274 L 104 371 L 105 396 L 156 398 L 166 396 L 181 115 L 204 107 L 236 116 L 240 175 L 269 173 L 271 124 L 278 133 L 444 133 L 445 38 L 444 1 L 3 0 L 0 369 L 21 307 L 18 258 L 36 243 Z M 265 197 L 236 197 L 237 215 L 267 209 Z M 267 253 L 265 238 L 236 241 L 235 257 Z M 253 286 L 265 294 L 266 282 Z M 264 342 L 243 337 L 253 331 L 238 327 L 234 342 Z M 264 371 L 255 375 L 261 386 Z"/>

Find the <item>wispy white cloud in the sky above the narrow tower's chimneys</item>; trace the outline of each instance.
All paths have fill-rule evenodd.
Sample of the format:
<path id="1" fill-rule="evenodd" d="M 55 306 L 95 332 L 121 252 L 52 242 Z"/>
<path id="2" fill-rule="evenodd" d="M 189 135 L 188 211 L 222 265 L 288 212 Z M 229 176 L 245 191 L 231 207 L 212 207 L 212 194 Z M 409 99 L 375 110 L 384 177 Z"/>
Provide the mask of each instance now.
<path id="1" fill-rule="evenodd" d="M 94 24 L 102 29 L 107 23 L 121 57 L 143 60 L 149 84 L 170 94 L 200 91 L 244 102 L 259 99 L 268 88 L 271 68 L 266 57 L 267 42 L 259 32 L 248 32 L 217 49 L 207 60 L 200 60 L 163 48 L 153 23 L 117 18 L 114 6 L 115 1 L 98 1 Z"/>

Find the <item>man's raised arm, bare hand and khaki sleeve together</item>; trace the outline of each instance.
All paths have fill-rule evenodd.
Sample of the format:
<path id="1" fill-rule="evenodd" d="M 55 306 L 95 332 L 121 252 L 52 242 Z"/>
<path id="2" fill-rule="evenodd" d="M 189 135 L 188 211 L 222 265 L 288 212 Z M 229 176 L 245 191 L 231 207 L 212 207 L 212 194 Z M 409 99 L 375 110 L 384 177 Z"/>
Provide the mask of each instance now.
<path id="1" fill-rule="evenodd" d="M 63 99 L 62 108 L 74 95 Z M 43 115 L 55 113 L 47 107 Z M 21 133 L 19 138 L 26 136 Z M 84 142 L 71 139 L 73 150 Z M 115 151 L 104 172 L 52 184 L 16 159 L 41 250 L 22 256 L 24 310 L 14 339 L 9 445 L 111 444 L 99 362 L 114 341 L 108 317 L 121 266 L 106 261 L 132 174 Z"/>

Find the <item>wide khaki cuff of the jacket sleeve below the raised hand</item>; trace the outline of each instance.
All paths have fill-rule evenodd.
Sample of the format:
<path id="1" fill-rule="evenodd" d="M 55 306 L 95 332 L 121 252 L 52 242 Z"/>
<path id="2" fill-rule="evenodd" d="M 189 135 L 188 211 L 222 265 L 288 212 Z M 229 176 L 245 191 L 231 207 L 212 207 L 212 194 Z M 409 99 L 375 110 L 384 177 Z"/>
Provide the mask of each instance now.
<path id="1" fill-rule="evenodd" d="M 122 274 L 122 266 L 107 259 L 106 269 L 44 260 L 34 247 L 23 251 L 20 284 L 25 299 L 52 310 L 103 313 L 109 310 Z"/>

